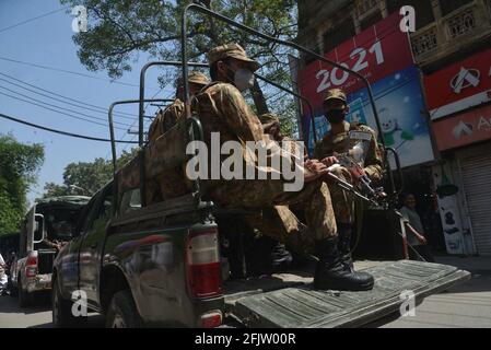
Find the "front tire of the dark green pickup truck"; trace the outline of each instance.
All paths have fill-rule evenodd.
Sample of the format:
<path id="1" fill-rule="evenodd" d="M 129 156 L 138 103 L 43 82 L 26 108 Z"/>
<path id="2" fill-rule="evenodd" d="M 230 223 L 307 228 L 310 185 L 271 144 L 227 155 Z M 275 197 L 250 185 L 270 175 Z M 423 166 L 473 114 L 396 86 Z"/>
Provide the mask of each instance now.
<path id="1" fill-rule="evenodd" d="M 73 302 L 63 299 L 58 281 L 52 280 L 51 290 L 51 316 L 52 325 L 57 328 L 81 327 L 86 322 L 86 316 L 74 316 L 72 314 Z"/>

